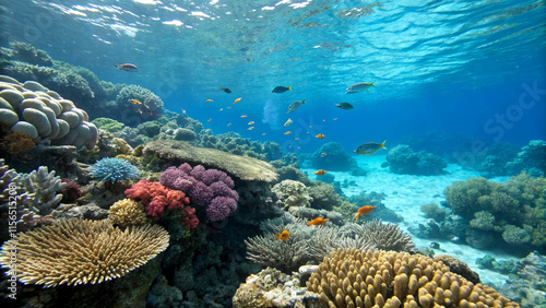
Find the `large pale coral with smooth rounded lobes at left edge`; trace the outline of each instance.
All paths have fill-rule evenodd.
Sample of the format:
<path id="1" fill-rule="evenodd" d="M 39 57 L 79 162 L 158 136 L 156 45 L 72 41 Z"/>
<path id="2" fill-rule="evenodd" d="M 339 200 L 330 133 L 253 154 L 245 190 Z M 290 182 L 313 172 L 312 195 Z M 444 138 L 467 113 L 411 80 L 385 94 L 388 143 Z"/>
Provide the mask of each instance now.
<path id="1" fill-rule="evenodd" d="M 0 125 L 55 145 L 95 147 L 98 130 L 87 114 L 35 81 L 0 75 Z"/>

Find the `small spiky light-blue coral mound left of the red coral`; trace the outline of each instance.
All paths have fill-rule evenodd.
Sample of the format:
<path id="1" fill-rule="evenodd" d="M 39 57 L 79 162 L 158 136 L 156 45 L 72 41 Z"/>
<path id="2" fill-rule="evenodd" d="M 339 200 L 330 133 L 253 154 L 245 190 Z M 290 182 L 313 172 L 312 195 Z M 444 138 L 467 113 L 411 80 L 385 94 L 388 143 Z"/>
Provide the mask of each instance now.
<path id="1" fill-rule="evenodd" d="M 133 179 L 140 174 L 139 168 L 121 158 L 103 158 L 90 168 L 90 175 L 103 181 Z"/>

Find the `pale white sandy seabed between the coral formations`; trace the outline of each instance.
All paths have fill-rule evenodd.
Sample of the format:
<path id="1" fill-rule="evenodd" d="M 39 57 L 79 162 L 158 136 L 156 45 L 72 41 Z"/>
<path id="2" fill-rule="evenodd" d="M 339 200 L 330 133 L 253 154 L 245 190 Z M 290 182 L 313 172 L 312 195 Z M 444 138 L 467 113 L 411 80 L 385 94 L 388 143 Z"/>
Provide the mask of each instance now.
<path id="1" fill-rule="evenodd" d="M 396 175 L 390 173 L 389 168 L 381 168 L 381 164 L 385 162 L 385 156 L 358 156 L 355 157 L 358 165 L 368 170 L 365 177 L 351 176 L 347 173 L 330 171 L 335 176 L 336 181 L 343 182 L 345 179 L 355 181 L 356 186 L 343 188 L 345 196 L 351 197 L 359 194 L 363 190 L 367 192 L 376 191 L 383 192 L 387 198 L 382 201 L 387 208 L 396 212 L 404 217 L 404 222 L 399 223 L 400 228 L 412 235 L 417 247 L 428 247 L 430 241 L 440 244 L 440 249 L 435 249 L 436 254 L 449 254 L 464 261 L 472 270 L 479 274 L 483 283 L 487 285 L 501 286 L 508 279 L 489 270 L 479 269 L 476 264 L 477 258 L 483 258 L 485 254 L 494 256 L 499 260 L 519 260 L 519 258 L 491 250 L 478 250 L 467 245 L 455 244 L 449 240 L 439 239 L 423 239 L 418 238 L 411 232 L 408 227 L 418 228 L 418 224 L 426 224 L 427 217 L 420 212 L 420 205 L 427 203 L 440 204 L 446 200 L 443 190 L 454 181 L 466 180 L 472 177 L 479 176 L 478 173 L 472 170 L 463 170 L 461 166 L 450 164 L 446 168 L 449 173 L 442 176 L 410 176 Z M 304 173 L 310 175 L 311 179 L 316 179 L 314 169 L 302 169 Z M 508 178 L 495 178 L 491 180 L 505 181 Z"/>

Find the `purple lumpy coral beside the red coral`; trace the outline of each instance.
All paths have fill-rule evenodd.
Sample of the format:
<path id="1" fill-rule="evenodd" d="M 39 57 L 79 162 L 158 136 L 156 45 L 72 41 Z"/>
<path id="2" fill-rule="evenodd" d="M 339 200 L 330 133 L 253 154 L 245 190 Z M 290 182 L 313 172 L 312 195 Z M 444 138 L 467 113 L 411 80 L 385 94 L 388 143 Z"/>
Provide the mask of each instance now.
<path id="1" fill-rule="evenodd" d="M 185 163 L 168 167 L 159 176 L 163 186 L 183 191 L 193 204 L 206 208 L 212 222 L 221 221 L 237 210 L 239 194 L 233 188 L 234 180 L 218 169 L 205 169 Z"/>

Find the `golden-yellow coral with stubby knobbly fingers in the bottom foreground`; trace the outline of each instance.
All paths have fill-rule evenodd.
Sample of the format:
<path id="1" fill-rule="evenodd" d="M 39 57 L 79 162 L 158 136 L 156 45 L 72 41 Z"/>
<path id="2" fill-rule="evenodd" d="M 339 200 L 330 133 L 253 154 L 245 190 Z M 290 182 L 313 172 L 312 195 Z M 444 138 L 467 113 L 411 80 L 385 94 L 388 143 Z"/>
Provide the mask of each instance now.
<path id="1" fill-rule="evenodd" d="M 307 288 L 320 294 L 322 307 L 519 307 L 441 261 L 395 251 L 339 249 Z"/>

